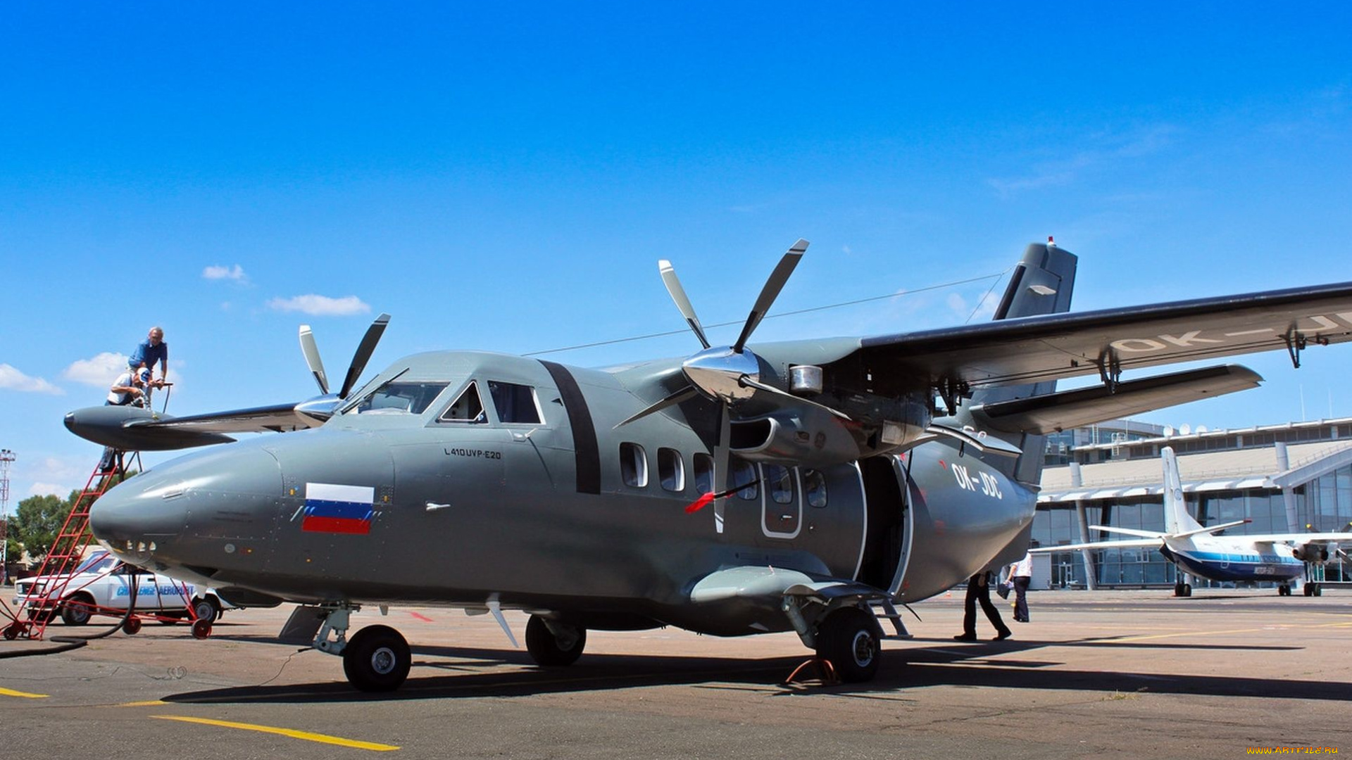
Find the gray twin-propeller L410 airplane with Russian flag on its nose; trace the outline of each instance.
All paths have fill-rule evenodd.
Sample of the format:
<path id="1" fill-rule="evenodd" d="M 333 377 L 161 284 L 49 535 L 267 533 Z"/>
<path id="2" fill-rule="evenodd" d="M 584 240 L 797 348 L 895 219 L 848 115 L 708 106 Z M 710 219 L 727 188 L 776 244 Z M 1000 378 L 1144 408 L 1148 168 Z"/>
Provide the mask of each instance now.
<path id="1" fill-rule="evenodd" d="M 118 449 L 230 441 L 154 467 L 93 506 L 126 561 L 292 626 L 353 686 L 397 688 L 410 649 L 361 604 L 529 613 L 526 648 L 568 665 L 587 630 L 792 630 L 841 678 L 873 678 L 873 604 L 938 594 L 1023 554 L 1053 430 L 1257 385 L 1215 365 L 1129 369 L 1352 338 L 1352 283 L 1068 314 L 1076 257 L 1032 245 L 990 323 L 750 343 L 807 247 L 771 275 L 730 346 L 610 369 L 481 352 L 400 358 L 361 388 L 387 315 L 337 394 L 185 418 L 96 407 L 74 433 Z M 1098 376 L 1057 392 L 1061 377 Z M 508 636 L 511 632 L 507 630 Z"/>

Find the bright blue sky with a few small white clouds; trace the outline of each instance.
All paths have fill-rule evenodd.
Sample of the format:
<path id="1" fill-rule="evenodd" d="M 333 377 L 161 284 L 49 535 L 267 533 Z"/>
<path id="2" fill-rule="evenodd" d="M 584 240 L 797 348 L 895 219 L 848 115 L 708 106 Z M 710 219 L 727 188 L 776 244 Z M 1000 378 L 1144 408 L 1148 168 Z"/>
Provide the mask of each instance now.
<path id="1" fill-rule="evenodd" d="M 963 322 L 1048 234 L 1079 310 L 1352 280 L 1344 3 L 277 5 L 0 16 L 12 503 L 84 484 L 61 418 L 151 325 L 195 414 L 316 392 L 300 323 L 330 376 L 381 311 L 372 369 L 679 330 L 658 258 L 738 320 L 799 237 L 776 311 L 991 277 L 757 339 Z M 1349 346 L 1240 361 L 1145 419 L 1352 417 Z"/>

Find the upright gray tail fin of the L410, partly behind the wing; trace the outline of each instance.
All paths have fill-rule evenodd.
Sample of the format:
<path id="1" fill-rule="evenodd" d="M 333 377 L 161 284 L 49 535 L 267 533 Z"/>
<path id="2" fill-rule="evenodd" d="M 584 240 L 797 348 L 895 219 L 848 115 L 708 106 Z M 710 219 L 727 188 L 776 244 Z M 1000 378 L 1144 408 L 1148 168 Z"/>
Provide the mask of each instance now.
<path id="1" fill-rule="evenodd" d="M 1014 266 L 1005 296 L 995 308 L 995 319 L 1061 314 L 1071 310 L 1071 292 L 1075 289 L 1075 266 L 1078 257 L 1056 243 L 1032 243 L 1023 252 L 1023 258 Z M 1041 396 L 1056 391 L 1056 381 L 1029 385 L 1002 385 L 983 388 L 972 395 L 971 403 L 988 404 L 1013 399 Z M 1006 438 L 1005 435 L 1000 435 Z M 1036 484 L 1042 475 L 1044 435 L 1023 434 L 1010 440 L 1023 454 L 1014 464 L 1014 477 Z"/>

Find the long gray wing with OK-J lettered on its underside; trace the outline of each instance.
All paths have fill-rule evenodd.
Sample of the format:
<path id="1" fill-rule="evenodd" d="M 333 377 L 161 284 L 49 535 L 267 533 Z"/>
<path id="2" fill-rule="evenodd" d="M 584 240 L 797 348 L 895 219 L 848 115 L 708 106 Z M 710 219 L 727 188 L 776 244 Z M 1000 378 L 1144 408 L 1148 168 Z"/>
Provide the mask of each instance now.
<path id="1" fill-rule="evenodd" d="M 864 338 L 856 358 L 911 388 L 1040 383 L 1352 339 L 1352 283 Z"/>

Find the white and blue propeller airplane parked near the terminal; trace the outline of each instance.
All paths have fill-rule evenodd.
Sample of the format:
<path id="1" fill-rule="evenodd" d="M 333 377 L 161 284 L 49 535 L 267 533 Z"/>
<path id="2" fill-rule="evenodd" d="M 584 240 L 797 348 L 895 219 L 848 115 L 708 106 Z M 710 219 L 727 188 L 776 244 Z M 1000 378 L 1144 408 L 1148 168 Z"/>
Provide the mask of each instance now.
<path id="1" fill-rule="evenodd" d="M 1330 554 L 1341 552 L 1340 542 L 1352 542 L 1352 533 L 1263 533 L 1249 536 L 1211 536 L 1218 530 L 1249 522 L 1240 519 L 1203 527 L 1187 513 L 1183 502 L 1183 484 L 1179 477 L 1178 458 L 1174 449 L 1165 446 L 1160 452 L 1164 460 L 1164 527 L 1165 533 L 1132 530 L 1091 525 L 1091 530 L 1136 536 L 1126 541 L 1094 541 L 1090 544 L 1061 544 L 1040 546 L 1034 553 L 1068 552 L 1079 549 L 1159 549 L 1164 559 L 1174 563 L 1180 572 L 1209 580 L 1272 580 L 1278 594 L 1291 595 L 1291 581 L 1301 577 L 1305 565 L 1320 564 Z M 1344 556 L 1347 556 L 1344 553 Z M 1306 596 L 1318 596 L 1317 583 L 1305 583 Z M 1192 584 L 1182 579 L 1174 586 L 1175 596 L 1191 596 Z"/>

